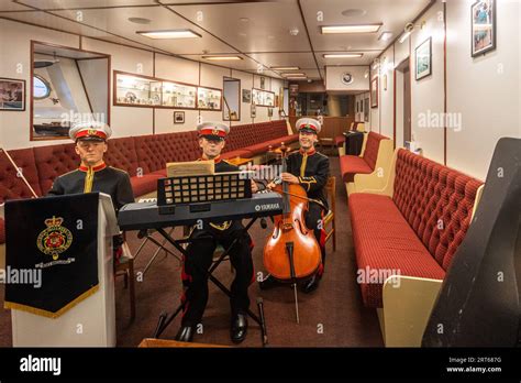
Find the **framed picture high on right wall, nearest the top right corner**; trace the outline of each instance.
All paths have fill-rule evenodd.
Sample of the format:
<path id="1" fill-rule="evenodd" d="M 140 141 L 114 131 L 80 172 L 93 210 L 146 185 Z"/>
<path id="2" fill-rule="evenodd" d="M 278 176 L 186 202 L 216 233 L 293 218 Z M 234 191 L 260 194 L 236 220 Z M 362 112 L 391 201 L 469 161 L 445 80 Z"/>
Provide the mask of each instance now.
<path id="1" fill-rule="evenodd" d="M 470 6 L 473 57 L 496 48 L 496 0 L 478 0 Z"/>

